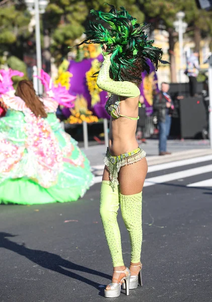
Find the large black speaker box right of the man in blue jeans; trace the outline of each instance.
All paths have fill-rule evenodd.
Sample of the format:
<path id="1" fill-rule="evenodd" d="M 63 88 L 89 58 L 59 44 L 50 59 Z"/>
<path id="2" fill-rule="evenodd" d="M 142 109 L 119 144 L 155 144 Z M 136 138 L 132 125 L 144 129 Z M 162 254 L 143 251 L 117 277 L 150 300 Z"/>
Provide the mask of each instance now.
<path id="1" fill-rule="evenodd" d="M 206 126 L 206 110 L 201 97 L 179 101 L 180 131 L 182 138 L 200 138 Z"/>

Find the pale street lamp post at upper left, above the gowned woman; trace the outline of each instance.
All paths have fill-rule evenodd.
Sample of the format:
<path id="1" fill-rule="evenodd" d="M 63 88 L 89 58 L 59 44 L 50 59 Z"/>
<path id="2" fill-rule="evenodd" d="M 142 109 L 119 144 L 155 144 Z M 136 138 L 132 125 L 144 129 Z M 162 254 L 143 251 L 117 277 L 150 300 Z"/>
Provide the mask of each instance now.
<path id="1" fill-rule="evenodd" d="M 45 8 L 48 4 L 47 0 L 25 0 L 29 12 L 35 16 L 35 38 L 36 38 L 36 58 L 37 58 L 37 70 L 40 72 L 42 69 L 42 55 L 41 55 L 41 42 L 40 42 L 40 16 L 45 12 Z M 42 95 L 43 87 L 38 81 L 38 95 Z"/>

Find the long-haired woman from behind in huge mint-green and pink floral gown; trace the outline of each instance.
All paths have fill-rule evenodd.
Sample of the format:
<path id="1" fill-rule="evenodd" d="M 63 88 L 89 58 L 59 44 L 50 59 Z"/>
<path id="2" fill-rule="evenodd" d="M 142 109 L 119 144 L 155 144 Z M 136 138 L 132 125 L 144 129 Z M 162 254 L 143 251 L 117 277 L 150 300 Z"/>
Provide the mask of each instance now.
<path id="1" fill-rule="evenodd" d="M 60 126 L 53 95 L 38 99 L 32 82 L 2 94 L 0 203 L 76 201 L 90 187 L 89 161 Z"/>

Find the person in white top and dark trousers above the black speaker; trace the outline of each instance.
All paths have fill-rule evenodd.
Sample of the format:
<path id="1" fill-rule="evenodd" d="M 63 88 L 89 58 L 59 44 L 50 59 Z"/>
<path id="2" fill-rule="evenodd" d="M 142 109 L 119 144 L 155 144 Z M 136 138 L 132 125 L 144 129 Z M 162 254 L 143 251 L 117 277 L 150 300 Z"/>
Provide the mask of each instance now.
<path id="1" fill-rule="evenodd" d="M 196 88 L 197 88 L 197 75 L 199 73 L 199 53 L 195 51 L 188 59 L 187 66 L 185 70 L 185 74 L 189 79 L 189 92 L 191 97 L 197 96 Z"/>

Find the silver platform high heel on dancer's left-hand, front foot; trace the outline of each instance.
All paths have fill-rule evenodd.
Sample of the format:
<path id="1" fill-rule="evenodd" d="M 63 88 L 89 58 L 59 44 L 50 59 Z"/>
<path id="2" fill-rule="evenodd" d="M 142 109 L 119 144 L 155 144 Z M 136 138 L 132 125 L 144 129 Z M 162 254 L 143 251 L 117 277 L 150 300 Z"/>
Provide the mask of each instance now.
<path id="1" fill-rule="evenodd" d="M 110 289 L 105 289 L 105 297 L 107 298 L 115 298 L 118 297 L 121 293 L 121 284 L 124 283 L 124 289 L 126 295 L 129 295 L 129 280 L 130 280 L 130 270 L 126 267 L 123 271 L 114 271 L 114 273 L 120 273 L 125 274 L 125 277 L 123 277 L 121 280 L 113 278 L 113 280 L 117 280 L 118 283 L 111 282 L 107 286 L 110 286 Z"/>

